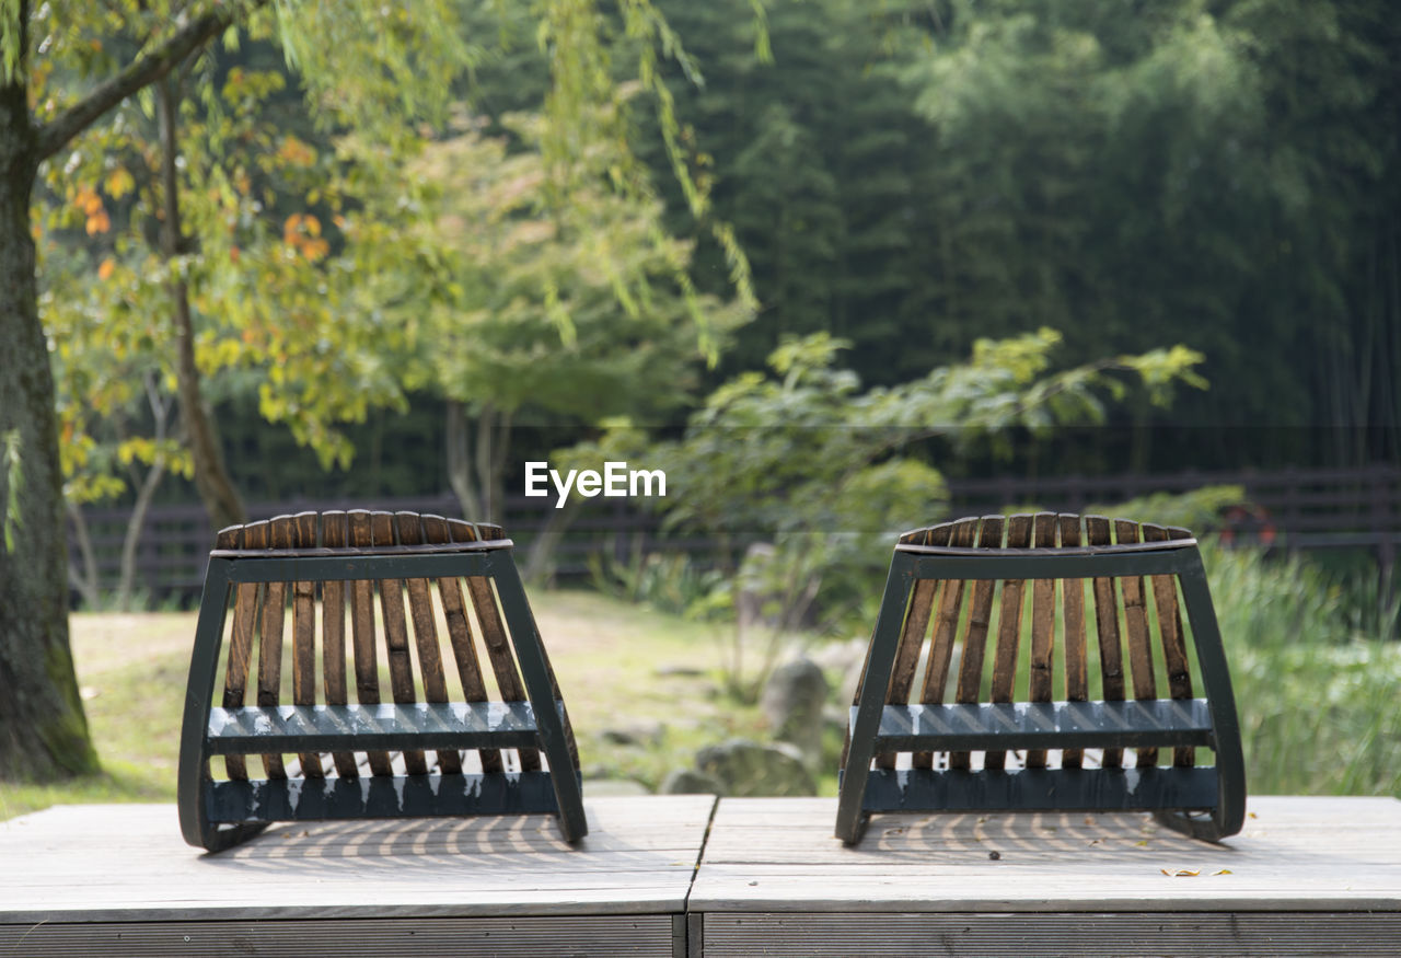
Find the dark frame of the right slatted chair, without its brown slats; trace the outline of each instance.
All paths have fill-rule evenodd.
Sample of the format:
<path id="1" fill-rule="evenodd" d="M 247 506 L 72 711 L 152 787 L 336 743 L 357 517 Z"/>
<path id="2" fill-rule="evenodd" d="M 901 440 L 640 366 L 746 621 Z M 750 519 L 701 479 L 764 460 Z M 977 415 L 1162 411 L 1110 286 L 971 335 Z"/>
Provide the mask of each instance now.
<path id="1" fill-rule="evenodd" d="M 1181 584 L 1205 699 L 887 704 L 916 580 L 1174 576 Z M 1215 766 L 1138 769 L 871 769 L 890 751 L 1205 745 Z M 1153 811 L 1164 825 L 1219 840 L 1241 829 L 1245 772 L 1230 672 L 1196 541 L 1072 548 L 895 548 L 871 636 L 841 777 L 836 836 L 859 842 L 871 812 Z M 1194 814 L 1196 812 L 1196 814 Z M 1202 817 L 1199 812 L 1209 812 Z"/>

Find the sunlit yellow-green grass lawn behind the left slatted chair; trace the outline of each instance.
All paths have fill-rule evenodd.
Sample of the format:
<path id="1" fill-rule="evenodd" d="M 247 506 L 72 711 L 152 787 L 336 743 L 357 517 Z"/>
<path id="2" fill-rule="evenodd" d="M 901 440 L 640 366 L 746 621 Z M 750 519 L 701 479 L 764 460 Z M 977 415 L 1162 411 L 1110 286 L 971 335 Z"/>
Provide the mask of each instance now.
<path id="1" fill-rule="evenodd" d="M 689 765 L 695 749 L 764 734 L 757 709 L 719 695 L 715 626 L 587 591 L 535 590 L 531 601 L 591 783 L 622 779 L 654 789 L 667 772 Z M 0 818 L 56 803 L 175 800 L 195 616 L 70 618 L 104 773 L 53 786 L 0 783 Z"/>

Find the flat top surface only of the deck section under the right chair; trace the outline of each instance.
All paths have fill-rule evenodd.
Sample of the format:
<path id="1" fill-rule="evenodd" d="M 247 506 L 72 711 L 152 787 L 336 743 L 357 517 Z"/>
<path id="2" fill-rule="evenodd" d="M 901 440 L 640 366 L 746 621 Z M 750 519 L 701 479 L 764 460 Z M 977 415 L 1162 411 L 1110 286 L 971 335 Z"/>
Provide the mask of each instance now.
<path id="1" fill-rule="evenodd" d="M 1252 798 L 1223 845 L 1142 814 L 950 814 L 877 815 L 848 849 L 835 812 L 822 798 L 722 800 L 691 909 L 1401 912 L 1394 798 Z"/>

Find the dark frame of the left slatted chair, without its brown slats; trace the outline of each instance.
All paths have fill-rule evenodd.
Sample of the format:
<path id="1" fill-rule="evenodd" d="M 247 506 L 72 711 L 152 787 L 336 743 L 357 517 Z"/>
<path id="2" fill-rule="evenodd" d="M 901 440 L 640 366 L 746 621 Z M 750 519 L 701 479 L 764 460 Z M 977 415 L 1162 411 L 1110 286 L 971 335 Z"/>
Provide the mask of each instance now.
<path id="1" fill-rule="evenodd" d="M 217 852 L 272 822 L 558 814 L 583 838 L 580 776 L 510 539 L 339 549 L 216 549 L 205 576 L 181 733 L 181 832 Z M 214 706 L 224 622 L 240 583 L 485 577 L 495 580 L 525 702 Z M 370 749 L 538 748 L 548 770 L 216 782 L 216 755 Z"/>

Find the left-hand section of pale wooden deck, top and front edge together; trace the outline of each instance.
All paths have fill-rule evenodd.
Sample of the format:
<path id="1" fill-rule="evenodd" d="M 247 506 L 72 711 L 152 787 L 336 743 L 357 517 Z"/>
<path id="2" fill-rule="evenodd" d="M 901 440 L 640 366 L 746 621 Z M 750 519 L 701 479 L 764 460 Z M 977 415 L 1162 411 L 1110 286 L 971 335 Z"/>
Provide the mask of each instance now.
<path id="1" fill-rule="evenodd" d="M 672 955 L 715 800 L 273 826 L 205 854 L 174 805 L 0 822 L 0 955 Z M 566 950 L 567 948 L 567 950 Z"/>

